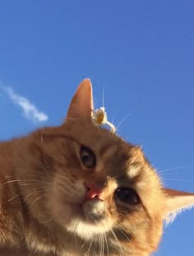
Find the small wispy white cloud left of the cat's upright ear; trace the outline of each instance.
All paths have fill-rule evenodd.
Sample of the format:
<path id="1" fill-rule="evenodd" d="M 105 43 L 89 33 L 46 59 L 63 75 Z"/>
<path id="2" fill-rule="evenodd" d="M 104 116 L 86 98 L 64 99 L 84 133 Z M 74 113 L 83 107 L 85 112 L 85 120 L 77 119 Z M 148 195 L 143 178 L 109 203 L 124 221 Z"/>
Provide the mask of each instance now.
<path id="1" fill-rule="evenodd" d="M 35 123 L 42 123 L 48 120 L 48 115 L 44 112 L 40 112 L 35 105 L 33 105 L 30 100 L 25 97 L 16 94 L 9 86 L 1 86 L 3 91 L 5 91 L 8 97 L 12 100 L 15 105 L 21 107 L 23 114 L 26 119 L 30 119 Z"/>

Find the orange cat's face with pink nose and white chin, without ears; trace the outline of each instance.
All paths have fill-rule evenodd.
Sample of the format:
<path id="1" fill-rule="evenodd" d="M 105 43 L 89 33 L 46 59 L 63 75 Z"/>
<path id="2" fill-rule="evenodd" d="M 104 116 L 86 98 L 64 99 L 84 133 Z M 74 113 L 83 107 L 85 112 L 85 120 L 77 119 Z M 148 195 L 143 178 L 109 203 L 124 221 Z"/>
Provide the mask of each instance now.
<path id="1" fill-rule="evenodd" d="M 79 121 L 73 128 L 67 124 L 35 134 L 40 136 L 42 142 L 33 143 L 37 161 L 48 169 L 40 179 L 45 174 L 49 184 L 39 183 L 44 199 L 35 206 L 49 212 L 48 220 L 88 241 L 116 236 L 127 252 L 156 247 L 164 193 L 140 147 Z"/>

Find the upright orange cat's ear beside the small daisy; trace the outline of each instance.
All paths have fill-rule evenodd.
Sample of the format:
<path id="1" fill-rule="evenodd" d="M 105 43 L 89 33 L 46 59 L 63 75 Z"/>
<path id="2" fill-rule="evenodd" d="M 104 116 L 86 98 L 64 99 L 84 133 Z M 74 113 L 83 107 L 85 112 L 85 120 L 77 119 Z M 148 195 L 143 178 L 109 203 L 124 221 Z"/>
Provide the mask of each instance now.
<path id="1" fill-rule="evenodd" d="M 93 95 L 90 79 L 81 81 L 67 111 L 65 123 L 77 119 L 91 119 Z"/>

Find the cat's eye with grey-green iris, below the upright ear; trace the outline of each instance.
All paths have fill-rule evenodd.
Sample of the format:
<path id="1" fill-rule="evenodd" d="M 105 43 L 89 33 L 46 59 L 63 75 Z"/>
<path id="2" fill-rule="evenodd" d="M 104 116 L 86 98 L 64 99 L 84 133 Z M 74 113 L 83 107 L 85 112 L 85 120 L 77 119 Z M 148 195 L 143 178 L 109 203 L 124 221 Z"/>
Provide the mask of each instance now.
<path id="1" fill-rule="evenodd" d="M 87 168 L 95 167 L 95 154 L 90 150 L 90 148 L 81 147 L 81 161 L 82 164 L 85 165 L 85 167 Z"/>

